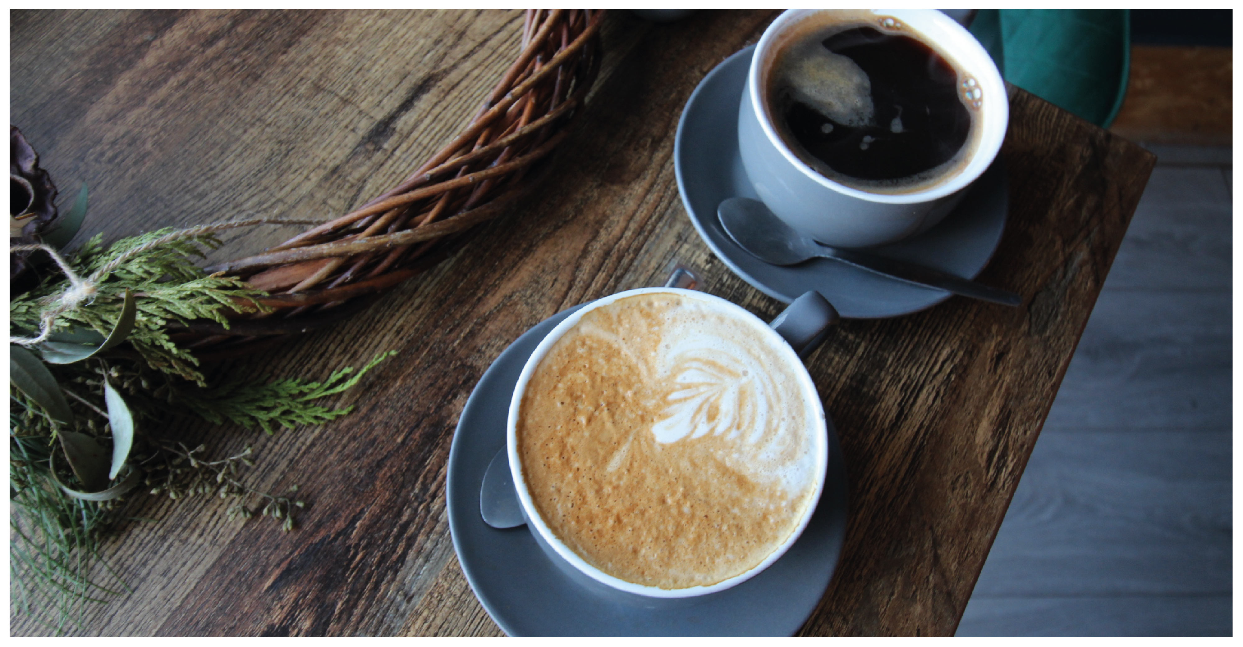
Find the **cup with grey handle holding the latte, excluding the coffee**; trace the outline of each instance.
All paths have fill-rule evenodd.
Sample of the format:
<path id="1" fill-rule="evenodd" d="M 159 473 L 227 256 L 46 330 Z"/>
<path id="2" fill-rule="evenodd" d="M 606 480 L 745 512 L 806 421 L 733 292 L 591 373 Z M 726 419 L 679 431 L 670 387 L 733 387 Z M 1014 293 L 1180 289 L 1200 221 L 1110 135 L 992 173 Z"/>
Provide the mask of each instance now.
<path id="1" fill-rule="evenodd" d="M 691 586 L 686 589 L 660 589 L 655 586 L 645 586 L 622 580 L 588 564 L 583 558 L 578 556 L 578 554 L 557 539 L 557 535 L 548 528 L 548 524 L 539 517 L 539 512 L 536 509 L 532 500 L 531 492 L 527 489 L 521 462 L 522 458 L 518 452 L 517 422 L 520 407 L 522 405 L 522 395 L 526 392 L 527 382 L 531 380 L 531 375 L 534 373 L 536 366 L 538 366 L 541 360 L 543 360 L 543 358 L 548 354 L 552 345 L 557 343 L 562 335 L 574 328 L 584 314 L 594 310 L 595 308 L 608 305 L 609 303 L 626 297 L 649 293 L 675 293 L 697 299 L 710 304 L 717 312 L 730 314 L 738 320 L 750 323 L 762 335 L 772 340 L 774 349 L 784 361 L 797 369 L 796 373 L 798 374 L 799 386 L 803 389 L 804 396 L 813 404 L 817 412 L 815 420 L 818 421 L 818 428 L 812 432 L 815 452 L 815 494 L 808 504 L 807 510 L 803 513 L 798 527 L 793 533 L 791 533 L 789 538 L 769 553 L 768 556 L 758 565 L 746 572 L 735 575 L 733 577 L 710 586 Z M 531 358 L 527 360 L 526 366 L 522 368 L 522 374 L 518 376 L 517 385 L 513 389 L 513 399 L 510 401 L 510 417 L 508 423 L 506 425 L 506 448 L 510 458 L 510 473 L 513 478 L 513 487 L 517 491 L 518 500 L 522 504 L 522 514 L 526 517 L 527 528 L 531 529 L 531 533 L 534 535 L 539 548 L 542 548 L 549 559 L 561 566 L 563 571 L 569 574 L 580 584 L 587 584 L 594 590 L 599 591 L 603 589 L 605 591 L 619 591 L 622 594 L 664 599 L 692 597 L 722 591 L 750 580 L 768 568 L 772 563 L 777 561 L 786 554 L 789 546 L 794 544 L 798 536 L 803 533 L 803 529 L 807 528 L 808 522 L 812 519 L 812 514 L 815 512 L 815 505 L 819 502 L 820 493 L 824 489 L 824 477 L 829 459 L 829 440 L 828 427 L 824 420 L 824 409 L 820 405 L 820 397 L 815 390 L 815 384 L 812 382 L 812 376 L 807 373 L 807 368 L 803 366 L 799 354 L 791 344 L 793 343 L 803 350 L 809 350 L 818 344 L 819 339 L 823 337 L 824 329 L 827 329 L 835 320 L 837 310 L 834 310 L 823 297 L 815 293 L 804 294 L 792 303 L 786 312 L 778 315 L 772 324 L 768 324 L 742 307 L 730 303 L 720 297 L 713 297 L 712 294 L 694 289 L 664 287 L 631 289 L 604 297 L 588 303 L 557 324 L 557 327 L 543 338 L 539 345 L 536 346 Z M 592 586 L 593 584 L 595 586 Z"/>

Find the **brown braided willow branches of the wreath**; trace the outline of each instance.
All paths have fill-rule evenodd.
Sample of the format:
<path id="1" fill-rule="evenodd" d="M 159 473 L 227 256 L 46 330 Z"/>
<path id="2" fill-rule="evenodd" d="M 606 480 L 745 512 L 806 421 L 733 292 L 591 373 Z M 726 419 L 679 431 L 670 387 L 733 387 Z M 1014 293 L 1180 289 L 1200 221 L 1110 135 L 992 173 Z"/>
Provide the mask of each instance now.
<path id="1" fill-rule="evenodd" d="M 208 268 L 267 291 L 272 312 L 230 330 L 191 325 L 179 338 L 218 351 L 336 322 L 327 309 L 418 276 L 460 245 L 460 233 L 503 212 L 536 184 L 532 165 L 568 134 L 599 71 L 603 14 L 527 10 L 517 60 L 474 119 L 409 178 L 264 253 Z"/>

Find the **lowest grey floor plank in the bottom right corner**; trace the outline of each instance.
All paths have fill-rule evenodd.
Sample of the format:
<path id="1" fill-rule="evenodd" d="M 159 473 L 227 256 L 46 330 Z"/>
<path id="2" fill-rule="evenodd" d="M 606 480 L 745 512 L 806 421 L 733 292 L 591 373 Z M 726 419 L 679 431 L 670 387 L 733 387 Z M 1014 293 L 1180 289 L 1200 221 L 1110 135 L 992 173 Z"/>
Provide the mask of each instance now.
<path id="1" fill-rule="evenodd" d="M 956 636 L 1233 636 L 1229 595 L 972 599 Z"/>

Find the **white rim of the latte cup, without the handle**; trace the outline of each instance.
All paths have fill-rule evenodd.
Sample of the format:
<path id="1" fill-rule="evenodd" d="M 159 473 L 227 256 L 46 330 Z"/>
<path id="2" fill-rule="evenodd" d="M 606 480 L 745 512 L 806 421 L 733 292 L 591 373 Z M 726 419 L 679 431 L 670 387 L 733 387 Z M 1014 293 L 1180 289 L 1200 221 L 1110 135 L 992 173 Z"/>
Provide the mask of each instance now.
<path id="1" fill-rule="evenodd" d="M 814 435 L 817 442 L 815 493 L 813 494 L 812 502 L 808 504 L 807 510 L 803 513 L 803 518 L 799 520 L 798 527 L 791 533 L 791 535 L 786 539 L 786 541 L 783 541 L 777 549 L 774 549 L 767 558 L 764 558 L 763 561 L 761 561 L 756 566 L 752 566 L 750 570 L 735 575 L 733 577 L 707 586 L 690 586 L 685 589 L 660 589 L 656 586 L 646 586 L 625 581 L 620 577 L 609 575 L 597 569 L 595 566 L 588 564 L 587 560 L 578 556 L 578 554 L 571 550 L 569 546 L 567 546 L 564 543 L 557 539 L 557 536 L 552 533 L 552 529 L 548 528 L 548 524 L 544 523 L 543 518 L 539 517 L 539 513 L 534 507 L 534 502 L 531 498 L 531 493 L 527 489 L 527 483 L 522 474 L 522 467 L 520 462 L 521 457 L 518 456 L 517 421 L 518 421 L 518 409 L 522 404 L 522 394 L 526 391 L 527 382 L 530 382 L 531 375 L 534 373 L 536 366 L 548 354 L 552 345 L 556 344 L 557 340 L 566 334 L 566 332 L 573 328 L 588 312 L 594 310 L 595 308 L 603 305 L 608 305 L 609 303 L 624 299 L 626 297 L 634 297 L 638 294 L 650 294 L 650 293 L 674 293 L 684 297 L 700 299 L 717 307 L 725 307 L 725 309 L 728 309 L 730 312 L 745 315 L 742 317 L 745 320 L 748 320 L 752 324 L 758 324 L 757 329 L 762 328 L 768 333 L 771 333 L 774 338 L 774 342 L 781 343 L 779 345 L 774 344 L 778 348 L 778 353 L 783 355 L 788 353 L 788 356 L 786 356 L 786 359 L 787 360 L 792 359 L 792 363 L 800 369 L 796 371 L 796 374 L 798 375 L 800 387 L 804 389 L 804 395 L 809 397 L 813 406 L 815 407 L 817 421 L 819 426 L 819 433 Z M 706 292 L 699 292 L 694 289 L 661 287 L 661 288 L 638 288 L 638 289 L 629 289 L 625 292 L 618 292 L 615 294 L 603 297 L 600 299 L 593 301 L 583 305 L 582 308 L 572 313 L 569 317 L 563 319 L 561 323 L 558 323 L 552 330 L 548 332 L 547 335 L 544 335 L 544 338 L 536 346 L 534 351 L 531 353 L 531 356 L 527 359 L 526 365 L 522 368 L 522 373 L 518 376 L 518 381 L 513 387 L 513 395 L 511 396 L 510 400 L 510 411 L 508 411 L 508 417 L 506 420 L 505 433 L 506 433 L 506 441 L 505 441 L 506 453 L 510 459 L 510 474 L 513 478 L 513 489 L 518 494 L 518 502 L 522 504 L 523 513 L 526 514 L 527 525 L 532 527 L 533 532 L 538 533 L 539 536 L 557 553 L 558 556 L 568 561 L 571 565 L 573 565 L 576 569 L 578 569 L 587 576 L 592 577 L 593 580 L 604 584 L 607 586 L 610 586 L 613 589 L 617 589 L 619 591 L 643 595 L 648 597 L 692 597 L 699 595 L 713 594 L 717 591 L 722 591 L 725 589 L 730 589 L 738 584 L 742 584 L 750 580 L 751 577 L 755 577 L 759 572 L 762 572 L 774 561 L 781 559 L 781 556 L 784 555 L 787 550 L 789 550 L 789 546 L 792 546 L 794 541 L 798 540 L 799 535 L 803 534 L 803 530 L 807 528 L 807 524 L 810 522 L 812 515 L 815 512 L 815 508 L 820 499 L 820 494 L 824 491 L 824 481 L 828 471 L 828 450 L 829 450 L 828 422 L 825 421 L 824 417 L 824 407 L 820 404 L 819 392 L 817 391 L 815 384 L 812 381 L 812 376 L 810 374 L 808 374 L 807 368 L 803 364 L 803 360 L 798 356 L 797 353 L 794 353 L 794 349 L 791 348 L 789 344 L 786 343 L 786 340 L 776 330 L 773 330 L 772 327 L 769 327 L 763 319 L 759 319 L 758 317 L 747 312 L 745 308 L 742 308 L 736 303 L 709 294 Z"/>

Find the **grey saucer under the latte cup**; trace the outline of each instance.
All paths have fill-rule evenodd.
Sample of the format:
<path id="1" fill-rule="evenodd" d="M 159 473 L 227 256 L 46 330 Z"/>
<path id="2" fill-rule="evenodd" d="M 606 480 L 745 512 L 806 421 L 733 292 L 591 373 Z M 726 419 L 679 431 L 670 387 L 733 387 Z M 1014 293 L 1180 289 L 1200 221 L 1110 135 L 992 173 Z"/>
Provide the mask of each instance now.
<path id="1" fill-rule="evenodd" d="M 445 498 L 454 549 L 475 596 L 510 636 L 789 636 L 798 631 L 824 595 L 845 536 L 845 464 L 832 419 L 824 493 L 803 535 L 767 570 L 717 594 L 624 604 L 605 600 L 553 565 L 526 527 L 497 530 L 484 523 L 479 491 L 488 462 L 505 446 L 518 374 L 539 340 L 576 309 L 543 320 L 505 349 L 479 380 L 459 419 Z"/>

